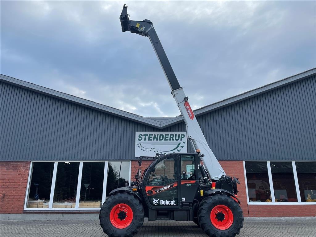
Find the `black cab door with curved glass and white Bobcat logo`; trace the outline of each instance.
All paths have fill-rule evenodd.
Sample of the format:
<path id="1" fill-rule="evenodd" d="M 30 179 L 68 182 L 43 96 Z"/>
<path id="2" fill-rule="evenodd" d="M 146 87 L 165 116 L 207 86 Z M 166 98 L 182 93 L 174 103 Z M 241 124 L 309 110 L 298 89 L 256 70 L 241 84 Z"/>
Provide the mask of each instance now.
<path id="1" fill-rule="evenodd" d="M 145 195 L 152 209 L 179 208 L 180 155 L 167 155 L 149 167 L 144 177 Z"/>

